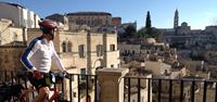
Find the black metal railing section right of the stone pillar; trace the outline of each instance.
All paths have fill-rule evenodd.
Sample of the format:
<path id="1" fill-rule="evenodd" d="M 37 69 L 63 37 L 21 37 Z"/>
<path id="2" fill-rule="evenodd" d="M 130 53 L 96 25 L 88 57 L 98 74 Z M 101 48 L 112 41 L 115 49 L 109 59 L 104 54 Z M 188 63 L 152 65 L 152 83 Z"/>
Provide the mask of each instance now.
<path id="1" fill-rule="evenodd" d="M 128 76 L 124 79 L 125 102 L 217 102 L 217 80 Z M 207 91 L 208 89 L 212 91 Z M 146 94 L 144 91 L 142 93 L 142 90 L 145 90 Z"/>

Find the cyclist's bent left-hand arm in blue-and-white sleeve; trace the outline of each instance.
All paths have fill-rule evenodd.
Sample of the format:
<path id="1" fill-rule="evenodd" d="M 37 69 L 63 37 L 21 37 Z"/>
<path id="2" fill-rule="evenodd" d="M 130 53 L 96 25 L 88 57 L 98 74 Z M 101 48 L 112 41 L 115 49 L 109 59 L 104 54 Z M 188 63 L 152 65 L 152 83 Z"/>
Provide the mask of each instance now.
<path id="1" fill-rule="evenodd" d="M 38 50 L 39 47 L 39 41 L 37 39 L 33 40 L 21 58 L 21 62 L 28 71 L 36 71 L 36 67 L 34 67 L 29 59 Z"/>

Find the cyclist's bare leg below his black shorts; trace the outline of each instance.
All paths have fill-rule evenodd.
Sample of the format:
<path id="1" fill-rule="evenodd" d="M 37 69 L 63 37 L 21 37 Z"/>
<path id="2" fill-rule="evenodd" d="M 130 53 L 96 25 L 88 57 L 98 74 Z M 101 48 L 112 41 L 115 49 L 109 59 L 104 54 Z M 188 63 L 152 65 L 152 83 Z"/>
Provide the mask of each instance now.
<path id="1" fill-rule="evenodd" d="M 39 89 L 38 95 L 33 100 L 33 102 L 47 102 L 49 93 L 50 93 L 49 87 L 41 87 Z"/>

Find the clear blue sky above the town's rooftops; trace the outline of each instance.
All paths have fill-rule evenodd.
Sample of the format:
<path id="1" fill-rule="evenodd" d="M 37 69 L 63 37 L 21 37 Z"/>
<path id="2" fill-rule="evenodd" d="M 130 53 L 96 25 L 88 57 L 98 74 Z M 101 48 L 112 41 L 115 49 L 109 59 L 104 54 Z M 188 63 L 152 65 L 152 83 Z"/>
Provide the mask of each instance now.
<path id="1" fill-rule="evenodd" d="M 78 11 L 110 12 L 119 16 L 123 23 L 138 23 L 144 26 L 146 11 L 151 13 L 152 26 L 171 28 L 174 12 L 179 11 L 179 25 L 187 22 L 192 29 L 204 29 L 217 24 L 217 0 L 0 0 L 14 2 L 36 12 L 40 17 L 53 13 Z"/>

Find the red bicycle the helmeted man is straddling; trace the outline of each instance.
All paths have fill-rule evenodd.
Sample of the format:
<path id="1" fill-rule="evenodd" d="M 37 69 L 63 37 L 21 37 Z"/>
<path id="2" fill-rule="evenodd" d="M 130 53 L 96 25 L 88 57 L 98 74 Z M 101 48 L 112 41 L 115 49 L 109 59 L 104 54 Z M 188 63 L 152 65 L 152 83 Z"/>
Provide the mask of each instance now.
<path id="1" fill-rule="evenodd" d="M 64 77 L 68 78 L 68 75 L 60 76 L 55 75 L 55 81 L 62 80 Z M 29 99 L 29 92 L 36 91 L 34 87 L 26 88 L 20 95 L 15 102 L 30 102 Z M 60 99 L 60 92 L 59 92 L 59 87 L 54 86 L 53 88 L 50 88 L 50 91 L 53 91 L 53 94 L 48 99 L 48 102 L 67 102 L 65 100 Z"/>

